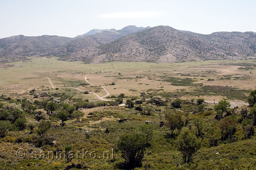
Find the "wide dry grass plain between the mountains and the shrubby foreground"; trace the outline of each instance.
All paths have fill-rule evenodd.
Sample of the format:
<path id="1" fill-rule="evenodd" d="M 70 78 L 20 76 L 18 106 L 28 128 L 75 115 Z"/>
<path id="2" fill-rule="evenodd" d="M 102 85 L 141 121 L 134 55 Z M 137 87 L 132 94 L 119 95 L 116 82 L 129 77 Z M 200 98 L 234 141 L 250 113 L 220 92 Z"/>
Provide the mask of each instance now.
<path id="1" fill-rule="evenodd" d="M 120 93 L 127 97 L 139 97 L 141 92 L 146 92 L 164 97 L 178 94 L 182 99 L 203 96 L 206 101 L 229 99 L 241 102 L 243 98 L 236 98 L 230 90 L 238 90 L 235 94 L 239 96 L 247 95 L 247 91 L 256 88 L 254 60 L 84 64 L 45 57 L 6 65 L 12 67 L 0 68 L 0 94 L 31 100 L 33 95 L 29 91 L 34 88 L 39 93 L 46 90 L 49 94 L 65 93 L 75 99 L 99 101 L 95 94 L 83 92 L 88 90 L 102 97 L 106 95 L 106 91 L 100 87 L 103 86 L 109 91 L 109 97 Z M 86 75 L 87 81 L 98 86 L 88 84 Z M 112 82 L 115 85 L 111 85 Z M 215 87 L 218 87 L 217 91 L 213 92 Z"/>

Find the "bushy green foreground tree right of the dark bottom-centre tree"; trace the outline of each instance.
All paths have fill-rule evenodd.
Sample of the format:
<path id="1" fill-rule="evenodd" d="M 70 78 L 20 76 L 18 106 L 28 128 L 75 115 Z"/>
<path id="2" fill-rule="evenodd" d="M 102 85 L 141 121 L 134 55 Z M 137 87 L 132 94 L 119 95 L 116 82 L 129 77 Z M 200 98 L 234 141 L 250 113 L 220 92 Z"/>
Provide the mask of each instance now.
<path id="1" fill-rule="evenodd" d="M 200 148 L 200 139 L 197 139 L 188 128 L 184 128 L 176 139 L 176 146 L 183 155 L 184 163 L 190 163 L 193 154 Z"/>

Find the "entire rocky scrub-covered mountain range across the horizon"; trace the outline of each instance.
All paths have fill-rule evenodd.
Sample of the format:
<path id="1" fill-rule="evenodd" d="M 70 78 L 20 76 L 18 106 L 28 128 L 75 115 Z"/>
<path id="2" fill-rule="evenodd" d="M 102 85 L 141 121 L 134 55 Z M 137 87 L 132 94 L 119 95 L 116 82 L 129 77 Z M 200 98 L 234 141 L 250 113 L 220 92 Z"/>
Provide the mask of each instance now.
<path id="1" fill-rule="evenodd" d="M 75 38 L 58 36 L 0 39 L 0 58 L 24 60 L 26 56 L 59 56 L 61 60 L 180 62 L 239 60 L 256 57 L 255 32 L 215 32 L 209 35 L 169 26 L 127 26 L 121 30 L 91 30 Z"/>

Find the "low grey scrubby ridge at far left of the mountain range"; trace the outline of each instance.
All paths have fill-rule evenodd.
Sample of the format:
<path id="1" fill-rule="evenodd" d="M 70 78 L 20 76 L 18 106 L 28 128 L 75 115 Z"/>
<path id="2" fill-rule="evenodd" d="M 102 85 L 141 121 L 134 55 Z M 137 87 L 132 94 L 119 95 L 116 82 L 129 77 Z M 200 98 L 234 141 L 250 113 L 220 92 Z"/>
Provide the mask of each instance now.
<path id="1" fill-rule="evenodd" d="M 24 60 L 26 56 L 33 56 L 40 51 L 47 50 L 58 44 L 72 40 L 68 37 L 56 35 L 24 36 L 17 35 L 0 39 L 0 62 Z"/>

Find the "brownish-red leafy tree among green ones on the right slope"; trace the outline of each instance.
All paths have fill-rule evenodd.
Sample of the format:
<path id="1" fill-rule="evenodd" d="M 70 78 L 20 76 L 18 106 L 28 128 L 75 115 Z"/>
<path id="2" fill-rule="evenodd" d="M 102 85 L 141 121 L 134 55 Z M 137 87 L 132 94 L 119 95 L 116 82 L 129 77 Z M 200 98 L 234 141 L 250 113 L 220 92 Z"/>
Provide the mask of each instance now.
<path id="1" fill-rule="evenodd" d="M 219 122 L 219 128 L 221 129 L 222 140 L 228 139 L 229 142 L 234 142 L 237 138 L 234 136 L 237 129 L 237 120 L 230 117 L 225 117 Z"/>

